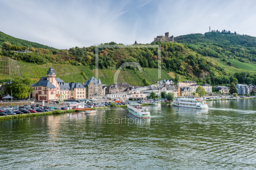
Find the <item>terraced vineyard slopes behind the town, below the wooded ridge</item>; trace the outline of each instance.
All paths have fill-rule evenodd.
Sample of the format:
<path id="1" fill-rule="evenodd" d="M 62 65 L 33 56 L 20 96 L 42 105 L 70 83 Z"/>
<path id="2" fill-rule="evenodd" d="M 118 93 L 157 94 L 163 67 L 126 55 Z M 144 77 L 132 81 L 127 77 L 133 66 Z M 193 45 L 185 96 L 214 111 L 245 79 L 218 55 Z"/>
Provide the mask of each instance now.
<path id="1" fill-rule="evenodd" d="M 64 82 L 80 82 L 83 83 L 92 76 L 95 76 L 95 70 L 90 70 L 87 66 L 74 66 L 71 64 L 47 63 L 38 65 L 23 61 L 16 61 L 9 57 L 0 56 L 0 79 L 11 79 L 16 76 L 23 78 L 31 78 L 35 81 L 41 77 L 45 77 L 48 69 L 52 67 L 56 76 Z M 114 74 L 116 70 L 100 69 L 99 77 L 103 84 L 114 84 Z M 146 85 L 143 79 L 147 79 L 150 84 L 155 84 L 158 80 L 173 78 L 166 72 L 162 71 L 162 79 L 157 79 L 157 69 L 144 68 L 141 76 L 132 69 L 122 70 L 118 76 L 118 82 L 128 82 L 135 86 Z M 175 81 L 175 80 L 174 80 Z"/>

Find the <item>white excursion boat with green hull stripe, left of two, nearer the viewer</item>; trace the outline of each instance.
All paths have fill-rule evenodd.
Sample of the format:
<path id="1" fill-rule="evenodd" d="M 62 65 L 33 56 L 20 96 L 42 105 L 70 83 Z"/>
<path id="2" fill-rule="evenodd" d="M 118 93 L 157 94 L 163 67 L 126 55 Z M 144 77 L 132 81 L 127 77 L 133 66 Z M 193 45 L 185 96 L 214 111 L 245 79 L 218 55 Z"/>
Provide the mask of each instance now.
<path id="1" fill-rule="evenodd" d="M 150 118 L 150 112 L 147 108 L 138 103 L 127 104 L 127 111 L 139 118 Z"/>

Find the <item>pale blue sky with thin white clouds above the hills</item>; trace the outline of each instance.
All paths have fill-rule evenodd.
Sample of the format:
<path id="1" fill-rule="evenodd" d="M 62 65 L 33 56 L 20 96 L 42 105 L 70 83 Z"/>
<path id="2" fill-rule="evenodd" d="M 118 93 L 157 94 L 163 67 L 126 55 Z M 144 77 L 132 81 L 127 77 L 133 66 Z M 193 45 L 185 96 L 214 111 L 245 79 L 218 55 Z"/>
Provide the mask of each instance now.
<path id="1" fill-rule="evenodd" d="M 256 36 L 256 1 L 0 0 L 0 31 L 57 49 L 230 30 Z"/>

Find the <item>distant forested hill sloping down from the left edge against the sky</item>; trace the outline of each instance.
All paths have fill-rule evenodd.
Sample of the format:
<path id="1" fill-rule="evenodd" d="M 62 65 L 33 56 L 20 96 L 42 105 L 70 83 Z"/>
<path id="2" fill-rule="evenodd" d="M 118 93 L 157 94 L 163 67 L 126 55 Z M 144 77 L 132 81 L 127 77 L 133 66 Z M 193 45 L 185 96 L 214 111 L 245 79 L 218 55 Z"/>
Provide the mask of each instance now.
<path id="1" fill-rule="evenodd" d="M 50 46 L 45 46 L 42 44 L 38 44 L 35 42 L 27 41 L 24 39 L 18 39 L 15 37 L 12 37 L 10 35 L 5 34 L 4 32 L 0 32 L 0 46 L 6 41 L 9 41 L 12 45 L 16 46 L 26 46 L 26 47 L 34 47 L 34 48 L 44 48 L 44 49 L 55 49 Z"/>

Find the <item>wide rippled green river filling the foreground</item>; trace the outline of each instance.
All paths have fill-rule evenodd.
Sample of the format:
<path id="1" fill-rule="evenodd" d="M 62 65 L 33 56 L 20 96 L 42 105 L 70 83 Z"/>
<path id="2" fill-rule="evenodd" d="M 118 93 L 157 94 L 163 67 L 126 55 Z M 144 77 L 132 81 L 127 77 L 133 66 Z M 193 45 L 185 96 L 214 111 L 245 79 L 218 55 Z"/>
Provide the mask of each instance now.
<path id="1" fill-rule="evenodd" d="M 0 169 L 254 169 L 255 102 L 0 120 Z"/>

